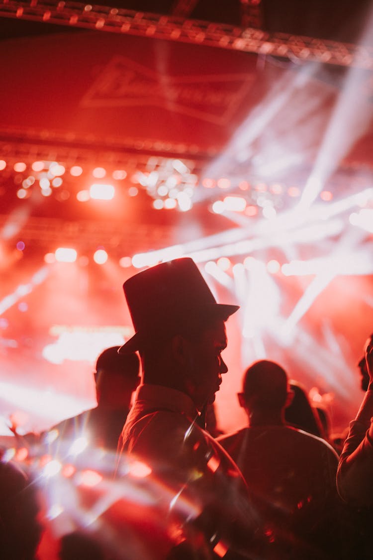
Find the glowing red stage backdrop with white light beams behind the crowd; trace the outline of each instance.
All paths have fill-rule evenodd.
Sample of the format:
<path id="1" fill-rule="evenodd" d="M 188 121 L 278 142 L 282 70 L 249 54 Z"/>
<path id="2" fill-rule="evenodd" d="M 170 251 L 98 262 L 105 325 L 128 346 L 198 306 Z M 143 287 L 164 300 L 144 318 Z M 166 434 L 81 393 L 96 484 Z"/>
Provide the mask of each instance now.
<path id="1" fill-rule="evenodd" d="M 1 433 L 95 405 L 96 357 L 131 334 L 122 283 L 182 255 L 240 305 L 220 427 L 244 422 L 240 380 L 266 357 L 343 430 L 373 330 L 370 69 L 145 31 L 2 42 Z"/>

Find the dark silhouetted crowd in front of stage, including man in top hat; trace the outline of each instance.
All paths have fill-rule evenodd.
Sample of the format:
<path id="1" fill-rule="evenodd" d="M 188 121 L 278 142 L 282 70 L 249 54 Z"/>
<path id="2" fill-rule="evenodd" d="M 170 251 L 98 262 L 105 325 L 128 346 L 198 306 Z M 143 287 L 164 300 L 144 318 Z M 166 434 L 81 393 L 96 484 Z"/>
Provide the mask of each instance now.
<path id="1" fill-rule="evenodd" d="M 97 407 L 37 437 L 14 428 L 1 451 L 0 558 L 372 558 L 373 335 L 346 438 L 270 359 L 248 365 L 247 423 L 225 434 L 214 400 L 238 306 L 216 302 L 190 258 L 124 294 L 135 334 L 98 356 Z"/>

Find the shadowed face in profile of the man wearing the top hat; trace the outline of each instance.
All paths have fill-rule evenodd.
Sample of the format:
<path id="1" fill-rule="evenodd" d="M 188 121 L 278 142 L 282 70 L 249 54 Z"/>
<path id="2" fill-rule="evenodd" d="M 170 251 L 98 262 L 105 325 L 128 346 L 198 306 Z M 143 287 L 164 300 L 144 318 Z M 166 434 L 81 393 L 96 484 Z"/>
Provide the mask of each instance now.
<path id="1" fill-rule="evenodd" d="M 212 404 L 219 391 L 221 374 L 228 371 L 221 352 L 226 347 L 226 332 L 223 320 L 216 322 L 191 343 L 190 395 L 197 408 Z"/>

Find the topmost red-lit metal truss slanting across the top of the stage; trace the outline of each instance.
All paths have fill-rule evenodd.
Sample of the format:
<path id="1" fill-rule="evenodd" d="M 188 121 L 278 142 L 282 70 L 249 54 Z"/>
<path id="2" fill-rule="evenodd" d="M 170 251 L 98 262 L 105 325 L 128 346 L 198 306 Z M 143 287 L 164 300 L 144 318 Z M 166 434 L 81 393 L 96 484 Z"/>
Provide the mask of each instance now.
<path id="1" fill-rule="evenodd" d="M 268 33 L 251 27 L 244 29 L 227 24 L 186 20 L 177 16 L 80 2 L 0 0 L 0 16 L 290 59 L 298 58 L 337 66 L 355 66 L 365 69 L 373 67 L 373 49 L 369 46 L 285 33 Z"/>

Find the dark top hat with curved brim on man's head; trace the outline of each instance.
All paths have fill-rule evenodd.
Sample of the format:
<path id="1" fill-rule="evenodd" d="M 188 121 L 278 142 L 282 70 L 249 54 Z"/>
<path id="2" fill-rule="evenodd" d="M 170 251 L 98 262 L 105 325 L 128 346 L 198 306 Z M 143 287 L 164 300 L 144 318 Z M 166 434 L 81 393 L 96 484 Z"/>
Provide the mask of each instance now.
<path id="1" fill-rule="evenodd" d="M 167 332 L 188 319 L 228 319 L 238 305 L 218 304 L 190 258 L 170 260 L 143 270 L 123 284 L 135 334 L 118 350 L 135 352 L 147 336 Z"/>

